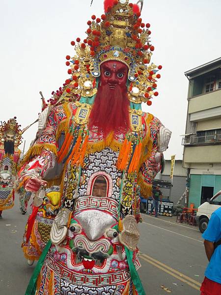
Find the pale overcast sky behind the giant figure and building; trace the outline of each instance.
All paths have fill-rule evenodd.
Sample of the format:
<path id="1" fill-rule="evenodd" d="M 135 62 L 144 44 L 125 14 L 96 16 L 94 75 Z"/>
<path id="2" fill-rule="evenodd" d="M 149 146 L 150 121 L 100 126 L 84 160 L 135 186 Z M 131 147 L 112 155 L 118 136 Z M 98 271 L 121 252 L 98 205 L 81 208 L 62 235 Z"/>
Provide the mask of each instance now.
<path id="1" fill-rule="evenodd" d="M 136 2 L 136 0 L 131 0 Z M 0 0 L 0 120 L 17 117 L 25 128 L 46 99 L 68 78 L 70 42 L 85 38 L 86 22 L 103 14 L 103 0 Z M 172 131 L 165 158 L 182 159 L 188 79 L 184 72 L 221 56 L 220 0 L 144 0 L 141 17 L 150 23 L 155 51 L 151 61 L 163 65 L 159 96 L 143 110 Z M 27 150 L 37 124 L 24 133 Z M 20 146 L 23 149 L 24 144 Z"/>

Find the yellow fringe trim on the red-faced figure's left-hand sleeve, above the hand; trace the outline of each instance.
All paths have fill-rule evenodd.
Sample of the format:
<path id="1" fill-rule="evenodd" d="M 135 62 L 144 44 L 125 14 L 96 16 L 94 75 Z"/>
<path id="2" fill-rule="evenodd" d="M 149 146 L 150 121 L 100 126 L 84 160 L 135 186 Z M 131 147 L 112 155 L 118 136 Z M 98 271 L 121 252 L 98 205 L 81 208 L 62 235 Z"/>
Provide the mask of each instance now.
<path id="1" fill-rule="evenodd" d="M 50 150 L 51 152 L 53 152 L 55 155 L 57 155 L 57 148 L 54 144 L 36 144 L 33 145 L 33 147 L 29 148 L 27 153 L 25 154 L 24 159 L 22 160 L 21 164 L 20 164 L 20 169 L 21 167 L 28 162 L 28 160 L 35 156 L 35 155 L 40 155 L 42 153 L 43 149 L 47 149 Z"/>

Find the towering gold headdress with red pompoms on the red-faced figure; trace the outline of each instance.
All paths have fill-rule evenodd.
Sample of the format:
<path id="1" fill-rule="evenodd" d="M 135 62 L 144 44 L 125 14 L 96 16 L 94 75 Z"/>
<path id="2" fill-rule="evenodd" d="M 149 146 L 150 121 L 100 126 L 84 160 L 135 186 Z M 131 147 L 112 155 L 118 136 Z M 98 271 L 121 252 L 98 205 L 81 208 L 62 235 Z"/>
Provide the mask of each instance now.
<path id="1" fill-rule="evenodd" d="M 142 8 L 143 1 L 138 3 Z M 91 16 L 86 30 L 87 37 L 81 42 L 77 38 L 71 41 L 76 56 L 66 56 L 66 65 L 70 66 L 71 78 L 65 81 L 62 97 L 81 95 L 91 97 L 97 92 L 97 78 L 100 77 L 100 65 L 108 60 L 118 60 L 129 68 L 129 99 L 134 103 L 147 102 L 155 91 L 157 80 L 161 77 L 158 70 L 162 66 L 150 64 L 154 46 L 150 41 L 150 24 L 144 24 L 140 18 L 140 8 L 129 0 L 105 0 L 105 14 L 101 18 Z"/>

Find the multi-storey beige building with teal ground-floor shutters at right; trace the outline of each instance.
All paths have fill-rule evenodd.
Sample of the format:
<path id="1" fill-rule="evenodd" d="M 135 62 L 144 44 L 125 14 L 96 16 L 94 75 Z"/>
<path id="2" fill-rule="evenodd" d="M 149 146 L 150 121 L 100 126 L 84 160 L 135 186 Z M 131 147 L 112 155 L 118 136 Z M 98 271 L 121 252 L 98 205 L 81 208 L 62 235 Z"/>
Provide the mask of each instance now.
<path id="1" fill-rule="evenodd" d="M 183 166 L 189 205 L 200 206 L 221 190 L 221 58 L 185 72 L 189 80 Z"/>

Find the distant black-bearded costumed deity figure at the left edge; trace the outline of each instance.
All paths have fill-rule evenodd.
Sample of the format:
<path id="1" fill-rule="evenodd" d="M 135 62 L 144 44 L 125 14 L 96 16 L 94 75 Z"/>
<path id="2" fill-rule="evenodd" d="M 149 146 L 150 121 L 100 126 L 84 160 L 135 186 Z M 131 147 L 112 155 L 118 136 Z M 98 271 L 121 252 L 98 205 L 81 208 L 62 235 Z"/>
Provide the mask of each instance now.
<path id="1" fill-rule="evenodd" d="M 14 181 L 17 175 L 21 150 L 22 131 L 16 117 L 0 126 L 0 218 L 2 210 L 14 206 Z"/>

